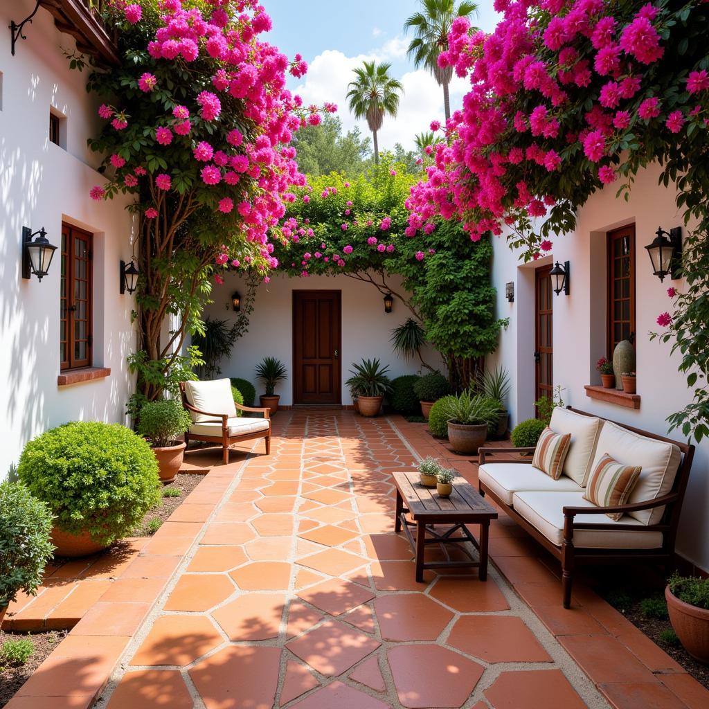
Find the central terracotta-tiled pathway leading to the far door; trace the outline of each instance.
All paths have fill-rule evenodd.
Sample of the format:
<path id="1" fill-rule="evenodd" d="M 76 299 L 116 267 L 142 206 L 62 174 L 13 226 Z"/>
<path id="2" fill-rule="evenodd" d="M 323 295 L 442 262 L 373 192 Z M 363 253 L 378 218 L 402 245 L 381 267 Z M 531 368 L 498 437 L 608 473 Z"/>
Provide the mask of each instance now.
<path id="1" fill-rule="evenodd" d="M 391 483 L 415 456 L 386 419 L 274 428 L 271 456 L 215 467 L 163 525 L 169 545 L 206 522 L 98 706 L 608 706 L 496 569 L 415 582 Z"/>

